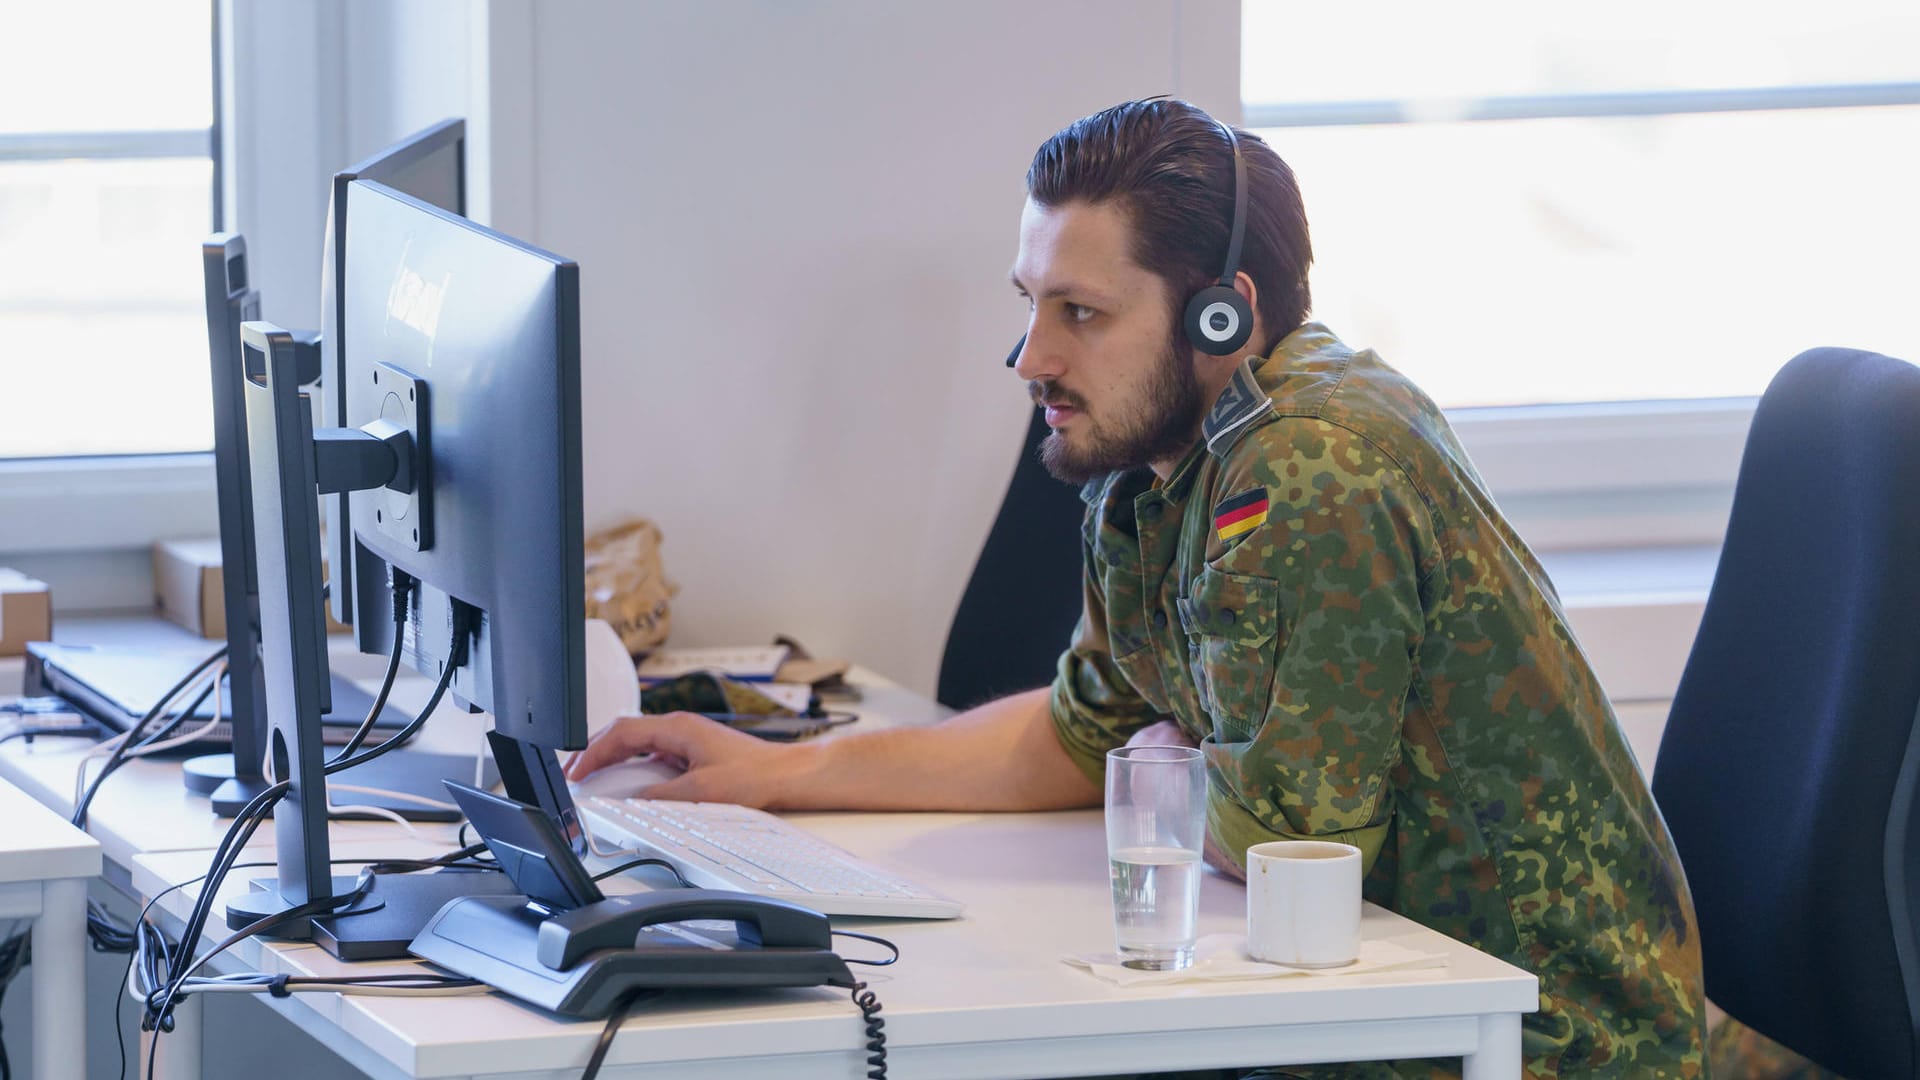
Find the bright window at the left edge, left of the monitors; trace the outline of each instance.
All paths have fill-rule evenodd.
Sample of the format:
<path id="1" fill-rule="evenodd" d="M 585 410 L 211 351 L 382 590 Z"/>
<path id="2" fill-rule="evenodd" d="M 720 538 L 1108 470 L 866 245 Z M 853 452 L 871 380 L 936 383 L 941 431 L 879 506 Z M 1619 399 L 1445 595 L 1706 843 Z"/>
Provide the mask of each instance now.
<path id="1" fill-rule="evenodd" d="M 25 4 L 6 17 L 0 459 L 211 446 L 211 17 L 207 0 Z"/>

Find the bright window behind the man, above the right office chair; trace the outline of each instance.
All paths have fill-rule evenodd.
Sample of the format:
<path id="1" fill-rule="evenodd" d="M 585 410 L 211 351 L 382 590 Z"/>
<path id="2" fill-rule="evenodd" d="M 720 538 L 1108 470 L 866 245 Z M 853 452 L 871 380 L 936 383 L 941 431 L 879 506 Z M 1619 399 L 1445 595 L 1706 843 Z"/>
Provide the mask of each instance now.
<path id="1" fill-rule="evenodd" d="M 1244 123 L 1300 177 L 1315 313 L 1440 404 L 1751 398 L 1822 344 L 1920 359 L 1920 8 L 1242 17 Z"/>

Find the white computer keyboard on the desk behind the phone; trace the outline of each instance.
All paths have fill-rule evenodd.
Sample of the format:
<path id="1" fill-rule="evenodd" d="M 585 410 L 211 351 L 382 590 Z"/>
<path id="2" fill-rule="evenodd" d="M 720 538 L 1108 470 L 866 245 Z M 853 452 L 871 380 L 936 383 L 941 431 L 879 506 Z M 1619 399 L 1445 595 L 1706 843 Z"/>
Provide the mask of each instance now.
<path id="1" fill-rule="evenodd" d="M 580 803 L 597 840 L 657 853 L 695 886 L 791 899 L 822 915 L 954 919 L 960 903 L 787 824 L 732 803 L 609 799 Z"/>

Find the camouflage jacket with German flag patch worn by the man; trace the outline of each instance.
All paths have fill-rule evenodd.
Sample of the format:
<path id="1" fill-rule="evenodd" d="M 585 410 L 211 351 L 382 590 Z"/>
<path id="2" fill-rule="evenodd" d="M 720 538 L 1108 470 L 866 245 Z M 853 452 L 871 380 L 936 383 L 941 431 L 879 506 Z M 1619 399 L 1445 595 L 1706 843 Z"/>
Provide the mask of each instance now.
<path id="1" fill-rule="evenodd" d="M 1068 753 L 1098 782 L 1173 717 L 1206 751 L 1221 849 L 1356 844 L 1367 899 L 1536 972 L 1530 1074 L 1701 1076 L 1680 859 L 1440 409 L 1308 323 L 1242 363 L 1204 432 L 1165 482 L 1083 490 L 1087 607 L 1052 688 Z"/>

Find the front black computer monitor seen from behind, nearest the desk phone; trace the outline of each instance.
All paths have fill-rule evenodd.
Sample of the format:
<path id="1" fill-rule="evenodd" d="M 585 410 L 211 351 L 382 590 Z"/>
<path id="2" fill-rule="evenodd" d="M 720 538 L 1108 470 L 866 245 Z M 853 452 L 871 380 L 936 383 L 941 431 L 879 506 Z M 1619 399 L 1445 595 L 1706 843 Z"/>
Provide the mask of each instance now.
<path id="1" fill-rule="evenodd" d="M 578 838 L 553 751 L 588 736 L 580 271 L 386 184 L 355 181 L 348 208 L 346 421 L 403 409 L 382 365 L 432 394 L 432 500 L 351 496 L 361 603 L 388 565 L 420 582 L 403 655 L 426 675 L 447 661 L 451 601 L 480 611 L 451 690 L 520 748 L 495 740 L 509 794 Z M 392 648 L 392 623 L 355 628 L 363 651 Z"/>

